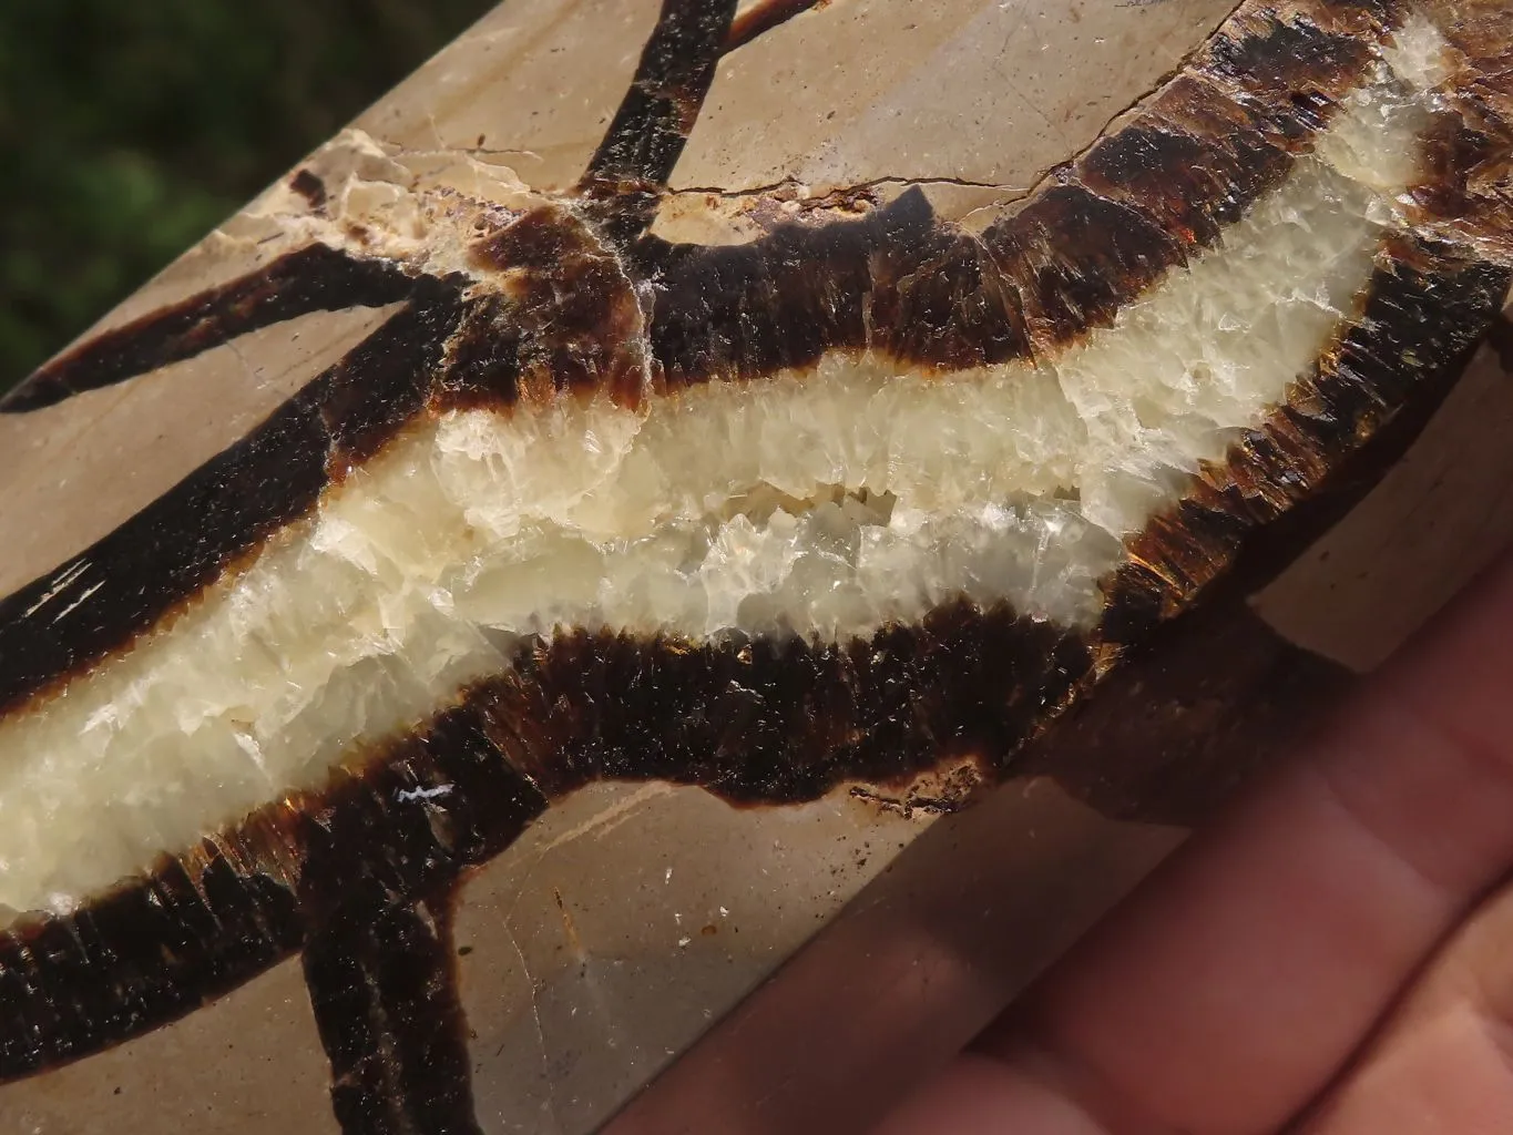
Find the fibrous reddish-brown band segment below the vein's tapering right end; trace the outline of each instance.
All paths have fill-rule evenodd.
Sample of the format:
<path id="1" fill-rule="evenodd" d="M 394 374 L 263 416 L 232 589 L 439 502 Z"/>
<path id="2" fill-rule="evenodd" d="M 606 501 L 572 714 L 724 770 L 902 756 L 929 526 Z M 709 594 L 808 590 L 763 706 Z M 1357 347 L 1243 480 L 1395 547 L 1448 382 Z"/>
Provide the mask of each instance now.
<path id="1" fill-rule="evenodd" d="M 1254 589 L 1301 552 L 1294 533 L 1324 527 L 1315 515 L 1321 498 L 1354 499 L 1383 472 L 1351 462 L 1360 439 L 1424 425 L 1490 327 L 1510 281 L 1505 266 L 1469 259 L 1452 245 L 1404 238 L 1383 248 L 1356 319 L 1312 374 L 1295 383 L 1265 427 L 1247 430 L 1223 462 L 1192 478 L 1180 501 L 1127 540 L 1126 561 L 1104 587 L 1097 637 L 1139 643 L 1221 577 Z M 1325 483 L 1328 493 L 1321 492 Z M 1254 540 L 1277 551 L 1248 574 L 1238 572 L 1238 552 Z"/>

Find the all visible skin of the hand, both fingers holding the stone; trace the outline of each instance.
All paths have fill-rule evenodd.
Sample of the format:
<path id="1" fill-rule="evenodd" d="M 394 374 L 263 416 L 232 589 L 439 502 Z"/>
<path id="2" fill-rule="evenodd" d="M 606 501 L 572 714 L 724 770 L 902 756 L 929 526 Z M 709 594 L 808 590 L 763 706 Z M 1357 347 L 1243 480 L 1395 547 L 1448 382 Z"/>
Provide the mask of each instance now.
<path id="1" fill-rule="evenodd" d="M 875 1135 L 1513 1130 L 1513 560 Z"/>

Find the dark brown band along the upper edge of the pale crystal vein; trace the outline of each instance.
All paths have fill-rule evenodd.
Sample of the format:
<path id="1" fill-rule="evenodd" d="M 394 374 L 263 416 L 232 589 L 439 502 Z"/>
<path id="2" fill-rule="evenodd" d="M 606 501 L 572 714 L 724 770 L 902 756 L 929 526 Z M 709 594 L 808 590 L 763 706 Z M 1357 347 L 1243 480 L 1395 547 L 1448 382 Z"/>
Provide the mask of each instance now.
<path id="1" fill-rule="evenodd" d="M 1278 185 L 1337 98 L 1359 83 L 1386 6 L 1315 8 L 1313 21 L 1282 23 L 1265 9 L 1238 18 L 1127 127 L 980 239 L 941 224 L 917 191 L 858 221 L 782 225 L 737 247 L 667 245 L 642 235 L 614 257 L 605 245 L 613 235 L 555 206 L 481 238 L 480 263 L 539 269 L 523 295 L 463 300 L 460 278 L 413 281 L 409 309 L 372 339 L 86 549 L 80 560 L 91 571 L 54 596 L 56 608 L 80 601 L 62 623 L 26 616 L 53 577 L 0 601 L 0 710 L 124 649 L 269 531 L 306 515 L 327 483 L 422 409 L 508 407 L 522 389 L 599 384 L 629 400 L 643 383 L 657 390 L 753 380 L 847 348 L 953 369 L 1076 342 Z M 643 67 L 657 70 L 663 59 L 648 50 Z M 670 95 L 658 103 L 673 104 L 681 106 Z M 649 185 L 663 179 L 658 169 L 648 166 Z M 324 265 L 327 254 L 316 259 Z M 622 260 L 634 278 L 617 269 Z M 269 285 L 245 286 L 263 295 Z M 372 281 L 363 286 L 353 303 L 390 295 Z M 186 357 L 186 322 L 221 334 L 262 325 L 239 298 L 225 298 L 241 297 L 239 288 L 195 297 L 121 334 L 142 357 Z M 336 304 L 343 285 L 300 288 Z M 274 310 L 266 300 L 257 307 Z M 642 318 L 649 360 L 628 353 L 623 337 Z M 124 350 L 126 339 L 103 354 Z M 86 357 L 94 357 L 89 345 L 80 363 Z M 0 410 L 23 412 L 33 398 L 51 396 L 33 395 L 33 386 L 79 389 L 79 372 L 67 369 L 76 365 L 65 357 L 44 368 Z M 54 366 L 64 368 L 61 377 Z M 86 595 L 101 580 L 106 586 Z"/>

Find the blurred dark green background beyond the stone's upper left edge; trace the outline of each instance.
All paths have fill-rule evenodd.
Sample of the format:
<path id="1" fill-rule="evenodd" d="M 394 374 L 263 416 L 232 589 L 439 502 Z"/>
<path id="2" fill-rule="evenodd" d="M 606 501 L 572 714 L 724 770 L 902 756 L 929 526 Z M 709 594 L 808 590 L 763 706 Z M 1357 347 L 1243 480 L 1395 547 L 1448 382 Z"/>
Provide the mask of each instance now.
<path id="1" fill-rule="evenodd" d="M 496 0 L 0 0 L 0 392 Z"/>

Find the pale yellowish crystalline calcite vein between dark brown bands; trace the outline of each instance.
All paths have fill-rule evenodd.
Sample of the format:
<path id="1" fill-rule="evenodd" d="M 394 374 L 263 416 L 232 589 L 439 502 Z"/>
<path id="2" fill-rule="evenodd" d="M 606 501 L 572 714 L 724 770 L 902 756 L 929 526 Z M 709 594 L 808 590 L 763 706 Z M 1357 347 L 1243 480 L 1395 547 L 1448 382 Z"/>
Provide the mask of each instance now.
<path id="1" fill-rule="evenodd" d="M 0 908 L 71 910 L 207 817 L 319 787 L 558 625 L 844 642 L 965 596 L 1091 628 L 1126 539 L 1283 401 L 1407 224 L 1436 47 L 1400 35 L 1280 188 L 1039 362 L 832 353 L 413 424 L 171 625 L 0 723 Z"/>

